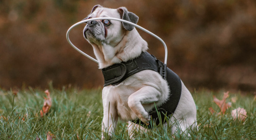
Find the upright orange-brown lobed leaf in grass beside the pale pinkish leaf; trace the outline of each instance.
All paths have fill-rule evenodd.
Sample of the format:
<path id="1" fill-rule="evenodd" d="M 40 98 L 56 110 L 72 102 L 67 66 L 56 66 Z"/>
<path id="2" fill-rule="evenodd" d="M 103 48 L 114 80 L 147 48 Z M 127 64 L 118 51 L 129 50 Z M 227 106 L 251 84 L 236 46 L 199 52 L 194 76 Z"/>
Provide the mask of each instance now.
<path id="1" fill-rule="evenodd" d="M 224 95 L 223 95 L 222 100 L 219 100 L 219 99 L 217 99 L 215 96 L 213 96 L 213 101 L 214 101 L 214 103 L 216 103 L 216 104 L 219 106 L 219 108 L 220 108 L 220 113 L 222 113 L 222 114 L 224 114 L 225 111 L 226 111 L 229 107 L 231 107 L 231 103 L 230 103 L 230 102 L 229 102 L 229 103 L 226 103 L 226 99 L 228 98 L 228 96 L 229 96 L 229 91 L 224 92 Z"/>

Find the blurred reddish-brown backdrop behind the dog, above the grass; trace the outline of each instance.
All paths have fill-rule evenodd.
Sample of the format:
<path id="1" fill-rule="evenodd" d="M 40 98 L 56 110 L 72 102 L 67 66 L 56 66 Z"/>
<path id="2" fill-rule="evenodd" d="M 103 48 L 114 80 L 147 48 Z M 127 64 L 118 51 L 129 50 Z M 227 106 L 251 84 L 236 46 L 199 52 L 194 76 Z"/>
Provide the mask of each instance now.
<path id="1" fill-rule="evenodd" d="M 256 91 L 255 0 L 0 0 L 0 87 L 103 86 L 97 64 L 66 41 L 94 5 L 125 6 L 168 46 L 167 66 L 189 89 Z M 94 57 L 80 25 L 70 39 Z M 151 54 L 162 44 L 139 30 Z"/>

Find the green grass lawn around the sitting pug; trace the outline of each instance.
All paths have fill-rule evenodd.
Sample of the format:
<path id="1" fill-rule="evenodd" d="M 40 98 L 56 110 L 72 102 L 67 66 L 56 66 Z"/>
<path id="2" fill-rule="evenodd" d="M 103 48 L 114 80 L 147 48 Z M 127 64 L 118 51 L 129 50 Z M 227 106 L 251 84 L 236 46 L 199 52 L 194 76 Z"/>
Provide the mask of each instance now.
<path id="1" fill-rule="evenodd" d="M 50 131 L 55 139 L 99 139 L 101 137 L 102 101 L 101 89 L 78 90 L 49 87 L 52 97 L 52 107 L 47 115 L 40 117 L 40 110 L 46 97 L 43 90 L 29 88 L 13 95 L 12 90 L 0 89 L 0 139 L 46 139 Z M 223 91 L 192 92 L 198 118 L 198 131 L 187 135 L 172 135 L 170 128 L 155 129 L 142 135 L 136 134 L 136 139 L 256 139 L 256 101 L 253 95 L 229 93 L 237 96 L 224 115 L 211 114 L 209 107 L 219 112 L 219 107 L 212 101 L 213 95 L 222 99 Z M 247 119 L 234 121 L 231 110 L 241 107 L 247 111 Z M 23 116 L 27 117 L 22 120 Z M 127 124 L 119 122 L 113 139 L 129 139 Z"/>

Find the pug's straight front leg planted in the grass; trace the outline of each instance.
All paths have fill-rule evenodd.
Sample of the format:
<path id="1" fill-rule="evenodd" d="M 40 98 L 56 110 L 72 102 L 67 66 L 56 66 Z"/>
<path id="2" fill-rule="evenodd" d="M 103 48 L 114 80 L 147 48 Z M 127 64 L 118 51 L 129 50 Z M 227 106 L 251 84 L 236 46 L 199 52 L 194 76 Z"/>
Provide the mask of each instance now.
<path id="1" fill-rule="evenodd" d="M 118 116 L 116 112 L 116 105 L 114 100 L 103 100 L 103 120 L 102 120 L 102 135 L 101 139 L 104 139 L 104 134 L 107 132 L 108 136 L 112 137 L 115 134 L 116 124 Z"/>

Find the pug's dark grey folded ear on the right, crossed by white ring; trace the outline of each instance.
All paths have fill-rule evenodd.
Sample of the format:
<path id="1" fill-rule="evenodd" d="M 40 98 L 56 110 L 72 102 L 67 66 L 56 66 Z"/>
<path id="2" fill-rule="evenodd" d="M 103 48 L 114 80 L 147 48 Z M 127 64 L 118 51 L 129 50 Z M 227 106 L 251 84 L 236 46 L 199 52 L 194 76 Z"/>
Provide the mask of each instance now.
<path id="1" fill-rule="evenodd" d="M 117 9 L 117 11 L 120 13 L 121 19 L 137 24 L 139 17 L 134 13 L 127 11 L 126 7 L 120 7 Z M 134 28 L 134 26 L 130 24 L 123 23 L 123 22 L 122 24 L 126 30 L 130 31 L 130 30 L 133 30 Z"/>

